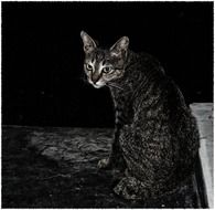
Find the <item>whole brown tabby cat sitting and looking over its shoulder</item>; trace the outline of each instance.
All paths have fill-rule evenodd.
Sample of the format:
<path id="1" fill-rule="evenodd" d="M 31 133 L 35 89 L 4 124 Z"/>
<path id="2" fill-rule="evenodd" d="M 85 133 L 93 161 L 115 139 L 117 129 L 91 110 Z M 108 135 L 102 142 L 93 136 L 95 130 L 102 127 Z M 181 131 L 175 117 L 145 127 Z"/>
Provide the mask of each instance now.
<path id="1" fill-rule="evenodd" d="M 101 49 L 80 32 L 84 71 L 95 88 L 108 86 L 116 111 L 115 138 L 99 168 L 125 171 L 114 191 L 125 199 L 157 198 L 194 172 L 200 148 L 196 120 L 160 62 L 129 49 L 122 36 Z"/>

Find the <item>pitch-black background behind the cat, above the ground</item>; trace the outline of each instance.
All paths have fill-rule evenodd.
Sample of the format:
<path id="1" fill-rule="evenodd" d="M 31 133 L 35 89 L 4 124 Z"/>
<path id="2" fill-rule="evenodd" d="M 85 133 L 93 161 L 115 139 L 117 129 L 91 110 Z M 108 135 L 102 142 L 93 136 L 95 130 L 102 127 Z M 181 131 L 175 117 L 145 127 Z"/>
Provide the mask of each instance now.
<path id="1" fill-rule="evenodd" d="M 107 88 L 83 82 L 80 30 L 160 60 L 187 104 L 213 101 L 213 2 L 2 2 L 2 124 L 112 127 Z"/>

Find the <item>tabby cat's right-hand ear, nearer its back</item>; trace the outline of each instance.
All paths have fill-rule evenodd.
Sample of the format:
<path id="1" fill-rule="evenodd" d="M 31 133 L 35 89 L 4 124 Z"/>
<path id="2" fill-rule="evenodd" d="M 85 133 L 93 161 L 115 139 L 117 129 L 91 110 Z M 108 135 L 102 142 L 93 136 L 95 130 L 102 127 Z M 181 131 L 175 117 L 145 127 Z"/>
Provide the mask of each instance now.
<path id="1" fill-rule="evenodd" d="M 127 54 L 128 45 L 129 39 L 127 36 L 122 36 L 110 48 L 110 54 L 112 56 L 122 56 L 123 54 Z"/>

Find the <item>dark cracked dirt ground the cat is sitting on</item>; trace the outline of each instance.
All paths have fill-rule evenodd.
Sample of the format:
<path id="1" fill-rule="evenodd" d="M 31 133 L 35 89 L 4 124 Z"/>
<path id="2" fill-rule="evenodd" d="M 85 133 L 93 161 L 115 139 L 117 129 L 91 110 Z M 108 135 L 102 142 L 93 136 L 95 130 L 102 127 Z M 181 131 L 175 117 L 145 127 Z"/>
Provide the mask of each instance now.
<path id="1" fill-rule="evenodd" d="M 112 191 L 107 157 L 112 129 L 2 127 L 2 208 L 200 208 L 192 180 L 158 200 L 127 201 Z"/>

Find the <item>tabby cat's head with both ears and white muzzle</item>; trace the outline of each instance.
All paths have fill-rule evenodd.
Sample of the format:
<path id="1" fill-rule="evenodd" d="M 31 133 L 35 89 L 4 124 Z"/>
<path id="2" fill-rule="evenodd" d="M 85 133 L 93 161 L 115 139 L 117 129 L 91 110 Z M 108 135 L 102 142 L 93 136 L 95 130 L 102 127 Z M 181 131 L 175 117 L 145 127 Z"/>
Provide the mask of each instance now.
<path id="1" fill-rule="evenodd" d="M 84 43 L 84 71 L 88 82 L 96 88 L 109 86 L 115 80 L 123 76 L 128 54 L 129 39 L 122 36 L 110 49 L 103 50 L 84 31 L 80 32 Z"/>

